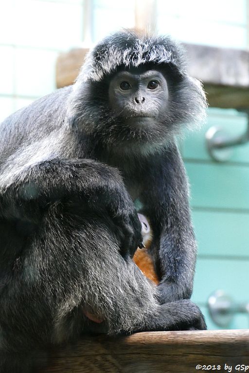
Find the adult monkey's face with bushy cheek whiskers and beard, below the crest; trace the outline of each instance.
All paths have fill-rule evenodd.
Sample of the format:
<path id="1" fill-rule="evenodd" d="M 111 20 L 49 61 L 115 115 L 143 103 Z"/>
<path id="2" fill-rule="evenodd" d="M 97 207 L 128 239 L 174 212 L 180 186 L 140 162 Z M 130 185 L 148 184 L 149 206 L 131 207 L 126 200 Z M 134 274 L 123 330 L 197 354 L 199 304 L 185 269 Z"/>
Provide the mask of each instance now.
<path id="1" fill-rule="evenodd" d="M 84 132 L 107 150 L 154 152 L 205 110 L 202 88 L 170 64 L 120 66 L 83 91 L 79 118 Z M 190 124 L 191 123 L 191 124 Z"/>

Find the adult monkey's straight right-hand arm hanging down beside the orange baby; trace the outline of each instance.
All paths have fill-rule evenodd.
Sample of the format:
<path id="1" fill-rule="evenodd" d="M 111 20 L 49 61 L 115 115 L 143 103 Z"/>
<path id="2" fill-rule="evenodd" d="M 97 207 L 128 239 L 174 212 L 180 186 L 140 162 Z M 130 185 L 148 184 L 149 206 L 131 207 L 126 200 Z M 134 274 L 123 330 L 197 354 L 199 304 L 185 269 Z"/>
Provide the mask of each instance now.
<path id="1" fill-rule="evenodd" d="M 141 200 L 143 214 L 149 217 L 154 233 L 151 253 L 160 276 L 161 302 L 190 298 L 192 294 L 196 241 L 188 193 L 176 146 L 152 159 Z"/>

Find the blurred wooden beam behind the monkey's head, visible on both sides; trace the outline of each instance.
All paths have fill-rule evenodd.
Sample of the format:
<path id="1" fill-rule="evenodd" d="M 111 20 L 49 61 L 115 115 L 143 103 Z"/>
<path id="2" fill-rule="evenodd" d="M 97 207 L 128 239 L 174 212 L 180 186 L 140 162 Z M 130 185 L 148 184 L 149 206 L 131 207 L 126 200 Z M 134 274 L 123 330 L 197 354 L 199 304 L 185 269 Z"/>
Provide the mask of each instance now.
<path id="1" fill-rule="evenodd" d="M 189 72 L 204 83 L 210 106 L 249 107 L 249 52 L 185 44 Z M 76 79 L 87 49 L 75 49 L 58 57 L 57 87 Z"/>

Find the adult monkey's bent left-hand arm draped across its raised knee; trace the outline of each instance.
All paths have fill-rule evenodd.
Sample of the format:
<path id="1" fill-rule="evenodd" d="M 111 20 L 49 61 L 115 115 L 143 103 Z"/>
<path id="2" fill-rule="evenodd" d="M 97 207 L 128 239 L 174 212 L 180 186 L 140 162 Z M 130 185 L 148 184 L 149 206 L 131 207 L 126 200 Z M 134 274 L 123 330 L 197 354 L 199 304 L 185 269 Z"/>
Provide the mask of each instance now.
<path id="1" fill-rule="evenodd" d="M 14 162 L 13 162 L 14 163 Z M 133 254 L 142 242 L 141 224 L 118 171 L 91 159 L 48 159 L 15 174 L 8 160 L 0 178 L 0 218 L 18 225 L 40 224 L 55 201 L 108 214 L 122 242 L 121 253 Z"/>

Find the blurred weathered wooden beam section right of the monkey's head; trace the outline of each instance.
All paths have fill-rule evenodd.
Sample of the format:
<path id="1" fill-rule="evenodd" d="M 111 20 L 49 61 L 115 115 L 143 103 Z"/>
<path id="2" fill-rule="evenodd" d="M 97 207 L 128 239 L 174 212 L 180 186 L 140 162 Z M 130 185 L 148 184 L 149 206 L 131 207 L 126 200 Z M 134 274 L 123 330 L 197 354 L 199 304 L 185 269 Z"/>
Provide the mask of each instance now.
<path id="1" fill-rule="evenodd" d="M 211 107 L 249 107 L 249 52 L 184 44 L 190 75 L 201 80 Z"/>

